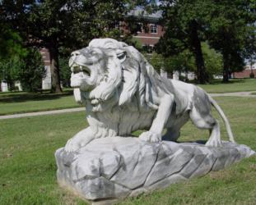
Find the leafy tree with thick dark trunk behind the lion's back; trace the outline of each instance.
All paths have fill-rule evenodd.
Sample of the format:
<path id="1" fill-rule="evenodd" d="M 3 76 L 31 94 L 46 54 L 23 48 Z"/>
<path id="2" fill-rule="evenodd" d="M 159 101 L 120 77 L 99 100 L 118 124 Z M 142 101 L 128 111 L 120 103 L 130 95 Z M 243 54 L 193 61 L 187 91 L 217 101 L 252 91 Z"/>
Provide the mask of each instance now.
<path id="1" fill-rule="evenodd" d="M 162 23 L 166 30 L 157 50 L 165 56 L 174 56 L 189 49 L 194 55 L 200 84 L 208 82 L 201 43 L 211 4 L 211 1 L 199 0 L 161 1 Z"/>

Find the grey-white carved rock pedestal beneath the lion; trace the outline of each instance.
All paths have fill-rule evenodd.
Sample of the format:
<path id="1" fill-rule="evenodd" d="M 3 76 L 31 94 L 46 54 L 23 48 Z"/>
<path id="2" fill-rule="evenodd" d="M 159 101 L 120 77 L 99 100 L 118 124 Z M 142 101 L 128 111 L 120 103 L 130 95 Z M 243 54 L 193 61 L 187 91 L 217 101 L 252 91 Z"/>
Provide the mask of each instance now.
<path id="1" fill-rule="evenodd" d="M 137 138 L 95 139 L 76 153 L 56 153 L 58 183 L 92 202 L 165 188 L 180 180 L 218 171 L 255 154 L 245 145 L 147 143 Z"/>

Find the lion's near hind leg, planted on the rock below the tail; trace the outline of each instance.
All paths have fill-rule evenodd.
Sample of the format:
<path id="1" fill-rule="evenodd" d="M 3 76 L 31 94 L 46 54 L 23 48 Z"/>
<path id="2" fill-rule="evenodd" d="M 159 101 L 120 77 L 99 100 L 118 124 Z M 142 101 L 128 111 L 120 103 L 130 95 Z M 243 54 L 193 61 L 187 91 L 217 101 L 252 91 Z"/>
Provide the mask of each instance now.
<path id="1" fill-rule="evenodd" d="M 221 130 L 219 122 L 214 119 L 210 113 L 199 113 L 197 109 L 193 107 L 190 112 L 190 119 L 193 124 L 199 129 L 206 129 L 210 131 L 210 138 L 207 141 L 207 146 L 209 147 L 219 147 L 221 146 Z"/>

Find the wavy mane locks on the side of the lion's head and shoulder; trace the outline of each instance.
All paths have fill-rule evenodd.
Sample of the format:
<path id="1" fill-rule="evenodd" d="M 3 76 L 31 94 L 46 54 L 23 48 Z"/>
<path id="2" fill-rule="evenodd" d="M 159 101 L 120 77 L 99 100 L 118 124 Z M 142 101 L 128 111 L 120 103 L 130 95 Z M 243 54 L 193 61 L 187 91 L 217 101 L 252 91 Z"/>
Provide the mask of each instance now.
<path id="1" fill-rule="evenodd" d="M 107 63 L 108 80 L 92 90 L 91 97 L 106 101 L 117 94 L 119 106 L 136 98 L 139 109 L 156 110 L 159 99 L 153 96 L 159 92 L 175 93 L 170 81 L 161 78 L 136 48 L 114 39 L 93 39 L 89 48 L 103 48 L 113 54 Z"/>

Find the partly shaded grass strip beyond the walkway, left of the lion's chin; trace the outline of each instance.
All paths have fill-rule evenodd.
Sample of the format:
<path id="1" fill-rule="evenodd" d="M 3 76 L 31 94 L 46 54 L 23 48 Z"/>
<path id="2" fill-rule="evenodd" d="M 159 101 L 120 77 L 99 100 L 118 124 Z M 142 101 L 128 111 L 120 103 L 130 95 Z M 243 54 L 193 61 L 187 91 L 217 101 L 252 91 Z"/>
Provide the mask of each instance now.
<path id="1" fill-rule="evenodd" d="M 72 90 L 54 93 L 0 93 L 0 116 L 78 107 Z"/>

